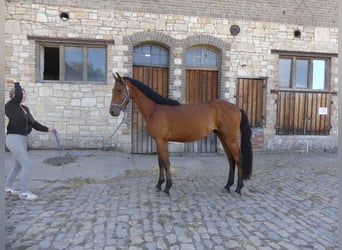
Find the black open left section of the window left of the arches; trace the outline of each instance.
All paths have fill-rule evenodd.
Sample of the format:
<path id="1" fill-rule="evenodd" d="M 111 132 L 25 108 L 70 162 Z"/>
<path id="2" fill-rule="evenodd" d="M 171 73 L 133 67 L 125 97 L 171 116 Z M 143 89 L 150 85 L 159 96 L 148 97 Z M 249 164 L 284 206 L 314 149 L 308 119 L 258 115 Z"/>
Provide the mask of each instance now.
<path id="1" fill-rule="evenodd" d="M 59 80 L 59 48 L 44 48 L 43 80 Z"/>

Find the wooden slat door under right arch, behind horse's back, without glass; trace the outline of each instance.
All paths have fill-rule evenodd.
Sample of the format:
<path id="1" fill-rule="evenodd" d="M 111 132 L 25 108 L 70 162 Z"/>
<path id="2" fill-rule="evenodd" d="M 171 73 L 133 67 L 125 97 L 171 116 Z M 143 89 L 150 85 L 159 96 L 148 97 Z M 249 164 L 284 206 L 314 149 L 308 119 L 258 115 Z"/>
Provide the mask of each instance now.
<path id="1" fill-rule="evenodd" d="M 185 101 L 189 104 L 217 99 L 218 71 L 187 70 L 185 83 Z M 196 126 L 194 124 L 194 126 Z M 210 134 L 208 137 L 185 144 L 186 152 L 213 153 L 217 152 L 217 137 Z"/>

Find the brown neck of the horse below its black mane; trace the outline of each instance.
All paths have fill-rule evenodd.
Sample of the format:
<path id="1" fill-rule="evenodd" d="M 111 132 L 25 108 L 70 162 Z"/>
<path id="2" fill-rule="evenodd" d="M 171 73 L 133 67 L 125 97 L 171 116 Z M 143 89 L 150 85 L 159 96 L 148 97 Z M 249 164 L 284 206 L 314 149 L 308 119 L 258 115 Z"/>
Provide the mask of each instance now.
<path id="1" fill-rule="evenodd" d="M 133 101 L 137 104 L 140 113 L 145 118 L 145 120 L 149 120 L 149 117 L 153 113 L 156 108 L 156 103 L 148 98 L 145 94 L 143 94 L 138 88 L 135 86 L 130 86 L 132 90 L 131 96 Z"/>

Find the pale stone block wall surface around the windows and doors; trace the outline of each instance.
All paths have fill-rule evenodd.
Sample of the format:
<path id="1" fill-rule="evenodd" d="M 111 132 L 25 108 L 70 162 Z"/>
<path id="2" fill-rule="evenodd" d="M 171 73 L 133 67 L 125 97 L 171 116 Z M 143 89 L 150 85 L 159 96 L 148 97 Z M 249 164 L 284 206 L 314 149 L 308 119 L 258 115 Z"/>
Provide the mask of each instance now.
<path id="1" fill-rule="evenodd" d="M 220 98 L 235 103 L 239 77 L 267 79 L 265 125 L 257 130 L 255 147 L 262 150 L 280 149 L 279 143 L 283 143 L 284 139 L 280 142 L 275 136 L 275 95 L 270 93 L 278 86 L 278 55 L 272 54 L 271 50 L 337 53 L 336 18 L 325 14 L 327 9 L 333 10 L 337 2 L 325 2 L 328 7 L 321 9 L 314 9 L 319 1 L 310 3 L 310 13 L 315 10 L 317 15 L 324 17 L 320 24 L 316 22 L 318 17 L 310 20 L 310 13 L 309 17 L 294 13 L 295 7 L 307 9 L 307 6 L 298 6 L 296 1 L 291 2 L 292 8 L 282 4 L 283 1 L 273 1 L 273 4 L 265 1 L 260 6 L 255 4 L 257 1 L 251 1 L 249 7 L 241 5 L 243 2 L 246 1 L 234 3 L 234 12 L 230 10 L 232 5 L 227 3 L 223 6 L 221 2 L 216 3 L 217 6 L 207 4 L 204 11 L 203 1 L 191 6 L 184 6 L 184 1 L 169 1 L 167 6 L 159 6 L 163 3 L 158 2 L 160 8 L 148 8 L 148 4 L 135 1 L 120 4 L 105 0 L 96 1 L 96 4 L 63 0 L 58 3 L 8 1 L 6 78 L 16 78 L 22 82 L 33 115 L 43 124 L 55 127 L 65 147 L 97 148 L 110 138 L 124 117 L 113 118 L 108 113 L 112 72 L 131 76 L 132 49 L 135 45 L 152 41 L 170 49 L 169 93 L 181 102 L 185 99 L 186 49 L 194 45 L 210 45 L 220 52 Z M 274 13 L 267 11 L 269 15 L 260 15 L 262 11 L 265 14 L 265 10 L 275 10 L 276 4 L 283 8 Z M 224 11 L 227 11 L 226 14 Z M 61 12 L 69 13 L 67 22 L 59 18 Z M 275 16 L 275 13 L 283 14 Z M 233 24 L 240 26 L 237 36 L 230 33 Z M 293 35 L 297 29 L 302 32 L 300 38 Z M 39 45 L 29 40 L 28 36 L 113 40 L 114 44 L 107 47 L 107 84 L 39 82 L 36 73 L 39 66 L 36 50 Z M 335 57 L 331 63 L 332 91 L 338 90 L 337 65 L 338 58 Z M 6 88 L 9 89 L 8 86 Z M 337 147 L 337 96 L 333 97 L 333 101 L 331 136 L 323 138 L 329 144 L 327 148 Z M 123 125 L 110 141 L 111 147 L 124 151 L 130 151 L 131 146 L 130 106 L 127 110 Z M 32 148 L 55 146 L 51 135 L 33 132 L 30 136 Z"/>

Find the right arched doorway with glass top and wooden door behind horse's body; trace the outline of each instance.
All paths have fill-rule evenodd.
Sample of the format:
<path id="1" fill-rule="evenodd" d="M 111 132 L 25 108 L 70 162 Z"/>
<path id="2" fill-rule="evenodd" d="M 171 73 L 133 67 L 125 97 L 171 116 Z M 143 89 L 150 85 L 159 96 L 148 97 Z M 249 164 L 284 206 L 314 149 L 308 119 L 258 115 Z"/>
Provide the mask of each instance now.
<path id="1" fill-rule="evenodd" d="M 218 97 L 218 54 L 214 49 L 196 46 L 186 52 L 186 103 L 198 103 Z M 217 137 L 214 134 L 185 144 L 186 152 L 217 152 Z"/>

